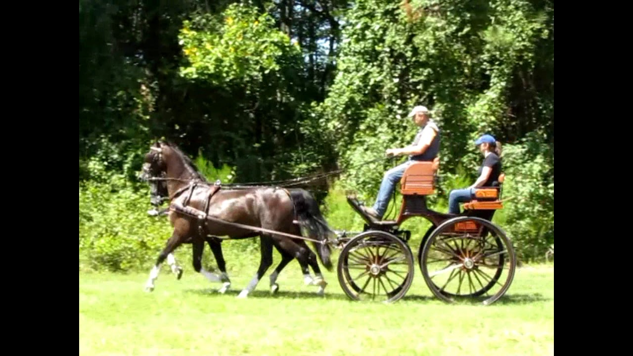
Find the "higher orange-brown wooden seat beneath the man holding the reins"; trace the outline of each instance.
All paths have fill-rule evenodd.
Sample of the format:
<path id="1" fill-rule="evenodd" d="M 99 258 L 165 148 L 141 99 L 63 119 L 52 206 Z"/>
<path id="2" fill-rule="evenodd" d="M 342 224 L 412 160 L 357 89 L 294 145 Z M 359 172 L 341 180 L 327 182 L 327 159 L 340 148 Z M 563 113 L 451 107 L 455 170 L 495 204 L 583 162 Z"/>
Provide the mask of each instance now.
<path id="1" fill-rule="evenodd" d="M 403 195 L 430 195 L 435 193 L 439 157 L 433 162 L 413 162 L 406 167 L 400 180 Z"/>

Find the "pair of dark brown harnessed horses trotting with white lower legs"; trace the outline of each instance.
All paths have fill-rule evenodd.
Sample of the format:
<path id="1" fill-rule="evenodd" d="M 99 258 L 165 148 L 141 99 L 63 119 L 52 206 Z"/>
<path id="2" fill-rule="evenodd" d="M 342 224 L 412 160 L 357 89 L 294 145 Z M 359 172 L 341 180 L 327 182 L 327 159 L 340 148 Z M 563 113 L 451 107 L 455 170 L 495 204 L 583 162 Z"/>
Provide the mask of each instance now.
<path id="1" fill-rule="evenodd" d="M 165 258 L 172 267 L 172 272 L 180 278 L 182 269 L 176 265 L 173 251 L 183 243 L 191 243 L 194 270 L 213 283 L 223 283 L 219 291 L 225 293 L 230 286 L 230 279 L 222 255 L 222 239 L 217 236 L 229 236 L 229 239 L 260 236 L 260 267 L 248 286 L 242 289 L 239 297 L 248 296 L 272 265 L 273 246 L 282 256 L 281 262 L 270 275 L 270 288 L 273 293 L 279 288 L 276 279 L 281 270 L 293 258 L 297 258 L 304 282 L 308 285 L 319 286 L 317 293 L 323 295 L 327 283 L 316 262 L 315 253 L 308 248 L 304 239 L 284 235 L 304 236 L 301 232 L 307 232 L 308 238 L 313 241 L 318 251 L 321 262 L 325 268 L 332 270 L 331 250 L 327 245 L 332 229 L 323 219 L 318 203 L 304 189 L 221 188 L 210 184 L 175 144 L 163 141 L 150 147 L 144 159 L 141 179 L 150 182 L 153 205 L 160 205 L 162 198 L 166 197 L 172 207 L 181 207 L 181 209 L 172 208 L 168 214 L 174 228 L 173 233 L 149 274 L 146 283 L 147 291 L 154 289 L 154 282 L 158 278 Z M 186 208 L 193 208 L 192 211 L 203 212 L 206 216 L 186 213 Z M 239 227 L 239 224 L 267 231 L 253 231 L 253 229 Z M 202 267 L 205 241 L 213 252 L 218 269 L 222 272 L 220 276 Z M 310 276 L 308 266 L 312 267 L 316 278 Z"/>

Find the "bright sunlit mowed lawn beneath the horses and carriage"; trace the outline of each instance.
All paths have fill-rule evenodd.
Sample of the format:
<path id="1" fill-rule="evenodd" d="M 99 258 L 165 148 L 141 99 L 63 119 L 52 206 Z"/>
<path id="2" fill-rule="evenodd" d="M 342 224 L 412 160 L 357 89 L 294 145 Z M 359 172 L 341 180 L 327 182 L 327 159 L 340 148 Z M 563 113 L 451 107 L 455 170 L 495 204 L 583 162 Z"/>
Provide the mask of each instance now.
<path id="1" fill-rule="evenodd" d="M 277 264 L 277 260 L 275 264 Z M 553 355 L 554 267 L 517 269 L 493 305 L 434 298 L 419 267 L 408 294 L 384 305 L 348 300 L 335 270 L 325 297 L 291 262 L 270 295 L 268 276 L 235 298 L 257 265 L 231 272 L 225 295 L 189 265 L 177 281 L 166 265 L 156 289 L 147 273 L 79 274 L 80 355 Z"/>

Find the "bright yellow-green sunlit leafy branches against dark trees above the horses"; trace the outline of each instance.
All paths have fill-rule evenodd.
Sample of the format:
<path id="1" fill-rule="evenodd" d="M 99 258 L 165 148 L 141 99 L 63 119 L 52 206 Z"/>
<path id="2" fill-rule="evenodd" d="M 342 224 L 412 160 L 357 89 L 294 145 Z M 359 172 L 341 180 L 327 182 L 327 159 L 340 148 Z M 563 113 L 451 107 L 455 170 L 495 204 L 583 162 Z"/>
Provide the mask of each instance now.
<path id="1" fill-rule="evenodd" d="M 283 76 L 285 65 L 300 65 L 298 46 L 275 29 L 267 13 L 231 4 L 222 17 L 221 24 L 205 16 L 183 22 L 179 43 L 191 63 L 180 69 L 185 78 L 256 89 L 271 78 L 268 73 Z"/>

